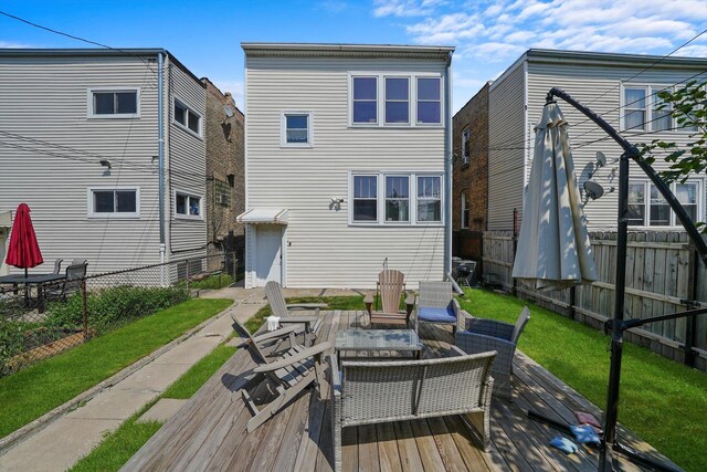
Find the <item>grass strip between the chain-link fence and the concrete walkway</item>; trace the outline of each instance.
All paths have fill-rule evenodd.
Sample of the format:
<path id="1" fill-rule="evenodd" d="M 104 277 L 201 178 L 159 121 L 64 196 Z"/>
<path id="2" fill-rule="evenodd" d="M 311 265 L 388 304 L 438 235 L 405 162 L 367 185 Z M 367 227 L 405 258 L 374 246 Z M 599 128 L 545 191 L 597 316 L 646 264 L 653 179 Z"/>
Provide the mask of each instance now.
<path id="1" fill-rule="evenodd" d="M 190 300 L 0 378 L 0 437 L 117 374 L 231 303 Z"/>

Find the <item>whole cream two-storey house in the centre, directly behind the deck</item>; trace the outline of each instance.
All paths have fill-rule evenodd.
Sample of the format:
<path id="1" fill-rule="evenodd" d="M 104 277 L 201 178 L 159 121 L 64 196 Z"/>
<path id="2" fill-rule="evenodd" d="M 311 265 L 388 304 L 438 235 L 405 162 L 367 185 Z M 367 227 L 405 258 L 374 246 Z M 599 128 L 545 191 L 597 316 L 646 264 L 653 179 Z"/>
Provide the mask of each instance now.
<path id="1" fill-rule="evenodd" d="M 442 280 L 454 49 L 242 46 L 245 285 L 371 287 L 386 263 Z"/>

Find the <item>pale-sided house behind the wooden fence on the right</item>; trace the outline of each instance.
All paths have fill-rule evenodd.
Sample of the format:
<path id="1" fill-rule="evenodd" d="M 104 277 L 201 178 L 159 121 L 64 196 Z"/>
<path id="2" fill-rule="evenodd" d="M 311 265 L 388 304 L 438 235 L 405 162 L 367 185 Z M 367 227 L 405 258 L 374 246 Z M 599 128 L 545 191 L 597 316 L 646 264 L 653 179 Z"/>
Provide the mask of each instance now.
<path id="1" fill-rule="evenodd" d="M 678 128 L 668 111 L 656 109 L 655 93 L 686 83 L 707 69 L 705 59 L 659 57 L 571 51 L 529 50 L 490 85 L 488 93 L 488 230 L 511 230 L 514 208 L 523 212 L 524 188 L 530 174 L 534 127 L 551 87 L 568 92 L 589 106 L 631 143 L 664 139 L 688 143 L 694 130 Z M 621 148 L 571 105 L 558 99 L 568 120 L 580 188 L 594 170 L 597 151 L 609 158 L 592 180 L 605 193 L 590 200 L 584 212 L 590 230 L 615 229 L 618 162 Z M 656 159 L 656 170 L 668 165 Z M 705 175 L 674 183 L 673 191 L 697 221 L 705 221 Z M 631 162 L 632 229 L 677 229 L 667 203 Z M 583 196 L 584 197 L 584 196 Z M 682 228 L 682 227 L 680 227 Z"/>

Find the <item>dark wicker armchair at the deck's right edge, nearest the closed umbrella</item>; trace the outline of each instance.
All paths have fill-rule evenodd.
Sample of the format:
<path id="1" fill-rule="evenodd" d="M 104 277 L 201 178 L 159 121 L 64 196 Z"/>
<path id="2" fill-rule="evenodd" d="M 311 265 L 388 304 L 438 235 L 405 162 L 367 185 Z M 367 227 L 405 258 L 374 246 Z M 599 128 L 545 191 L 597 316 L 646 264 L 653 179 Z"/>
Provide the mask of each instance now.
<path id="1" fill-rule="evenodd" d="M 454 343 L 467 354 L 498 352 L 492 369 L 496 380 L 496 394 L 511 400 L 513 356 L 516 353 L 518 338 L 530 319 L 530 310 L 527 306 L 524 307 L 515 325 L 466 315 L 464 331 L 456 332 Z"/>

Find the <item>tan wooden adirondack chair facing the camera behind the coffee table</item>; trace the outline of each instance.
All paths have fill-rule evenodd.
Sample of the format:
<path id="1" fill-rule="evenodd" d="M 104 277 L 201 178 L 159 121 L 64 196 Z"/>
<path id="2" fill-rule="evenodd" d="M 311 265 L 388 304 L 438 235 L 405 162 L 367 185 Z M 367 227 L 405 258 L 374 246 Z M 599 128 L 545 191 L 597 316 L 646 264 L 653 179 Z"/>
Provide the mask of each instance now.
<path id="1" fill-rule="evenodd" d="M 371 317 L 371 324 L 408 325 L 410 313 L 414 305 L 414 296 L 407 295 L 408 310 L 400 312 L 400 296 L 405 289 L 405 274 L 400 271 L 387 269 L 378 274 L 377 297 L 380 300 L 381 310 L 372 308 L 373 294 L 369 293 L 363 302 Z M 378 307 L 376 307 L 378 308 Z"/>

